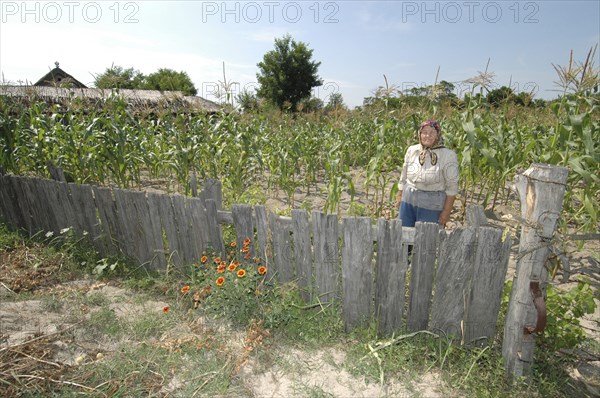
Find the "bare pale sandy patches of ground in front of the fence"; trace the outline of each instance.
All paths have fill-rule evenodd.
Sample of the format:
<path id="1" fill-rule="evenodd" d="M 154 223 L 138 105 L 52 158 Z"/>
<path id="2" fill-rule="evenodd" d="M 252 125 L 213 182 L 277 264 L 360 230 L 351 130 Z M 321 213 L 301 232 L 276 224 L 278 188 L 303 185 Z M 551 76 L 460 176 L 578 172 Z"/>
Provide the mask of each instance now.
<path id="1" fill-rule="evenodd" d="M 136 294 L 107 284 L 93 284 L 90 281 L 75 281 L 65 286 L 52 288 L 54 294 L 77 290 L 86 295 L 95 295 L 95 299 L 109 303 L 119 319 L 132 320 L 135 317 L 156 314 L 162 316 L 162 309 L 167 303 L 146 300 L 140 302 Z M 6 291 L 3 293 L 6 295 Z M 10 294 L 10 293 L 9 293 Z M 101 297 L 100 297 L 101 296 Z M 48 305 L 40 300 L 0 303 L 0 325 L 2 325 L 0 350 L 8 347 L 19 347 L 28 344 L 31 339 L 39 340 L 47 336 L 44 343 L 51 344 L 53 355 L 44 357 L 44 362 L 61 365 L 80 366 L 99 360 L 110 360 L 112 355 L 119 355 L 122 344 L 131 341 L 115 342 L 102 336 L 86 335 L 79 329 L 81 319 L 73 316 L 68 302 L 61 309 L 49 310 Z M 84 318 L 97 310 L 90 308 Z M 200 320 L 199 320 L 200 321 Z M 67 333 L 68 332 L 68 333 Z M 214 331 L 213 331 L 214 332 Z M 202 329 L 182 326 L 178 330 L 165 333 L 159 344 L 202 338 L 198 333 Z M 231 344 L 242 344 L 243 336 L 230 339 Z M 237 342 L 237 343 L 236 343 Z M 237 347 L 244 352 L 243 347 Z M 418 379 L 405 381 L 386 380 L 385 383 L 367 382 L 352 376 L 345 370 L 345 353 L 336 347 L 326 347 L 318 352 L 289 350 L 286 348 L 269 347 L 270 355 L 276 358 L 270 366 L 260 363 L 254 356 L 241 358 L 239 375 L 244 380 L 246 390 L 251 391 L 251 397 L 304 397 L 311 391 L 329 397 L 442 397 L 442 387 L 435 372 L 422 375 Z M 44 349 L 46 352 L 49 349 Z M 38 354 L 41 355 L 41 354 Z M 193 363 L 190 363 L 193 366 Z M 49 376 L 50 377 L 50 376 Z M 185 385 L 184 380 L 173 376 L 164 382 L 161 393 L 164 396 L 178 396 L 177 391 Z"/>

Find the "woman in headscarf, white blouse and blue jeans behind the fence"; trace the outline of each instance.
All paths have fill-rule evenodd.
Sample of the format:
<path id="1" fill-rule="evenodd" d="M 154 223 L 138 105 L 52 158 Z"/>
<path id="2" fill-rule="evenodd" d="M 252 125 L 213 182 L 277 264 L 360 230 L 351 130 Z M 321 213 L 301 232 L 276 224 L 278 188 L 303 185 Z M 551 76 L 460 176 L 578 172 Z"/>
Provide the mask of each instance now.
<path id="1" fill-rule="evenodd" d="M 444 227 L 458 193 L 458 160 L 454 151 L 444 147 L 437 121 L 423 122 L 418 135 L 419 144 L 410 146 L 404 156 L 398 218 L 405 227 L 414 227 L 417 221 Z"/>

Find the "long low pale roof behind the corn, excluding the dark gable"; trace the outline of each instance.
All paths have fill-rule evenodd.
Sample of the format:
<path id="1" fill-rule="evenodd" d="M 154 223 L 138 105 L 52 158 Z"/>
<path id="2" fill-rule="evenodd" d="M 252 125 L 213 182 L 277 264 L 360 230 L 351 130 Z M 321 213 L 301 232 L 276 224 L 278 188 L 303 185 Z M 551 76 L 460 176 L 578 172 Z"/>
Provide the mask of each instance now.
<path id="1" fill-rule="evenodd" d="M 37 84 L 37 83 L 36 83 Z M 178 104 L 207 112 L 217 112 L 219 104 L 197 96 L 186 96 L 181 91 L 100 89 L 100 88 L 65 88 L 49 86 L 1 86 L 0 95 L 8 97 L 42 98 L 47 101 L 68 100 L 73 97 L 82 99 L 105 99 L 111 95 L 119 95 L 132 105 Z"/>

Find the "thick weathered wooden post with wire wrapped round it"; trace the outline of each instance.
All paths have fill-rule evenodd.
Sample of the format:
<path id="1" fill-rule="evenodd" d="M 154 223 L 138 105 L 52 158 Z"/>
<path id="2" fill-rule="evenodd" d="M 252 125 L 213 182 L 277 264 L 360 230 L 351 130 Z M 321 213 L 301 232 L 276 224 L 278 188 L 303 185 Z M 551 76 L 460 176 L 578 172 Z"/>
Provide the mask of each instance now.
<path id="1" fill-rule="evenodd" d="M 535 336 L 545 326 L 545 262 L 562 210 L 567 174 L 564 167 L 533 164 L 516 179 L 523 225 L 502 346 L 509 377 L 529 375 Z"/>

